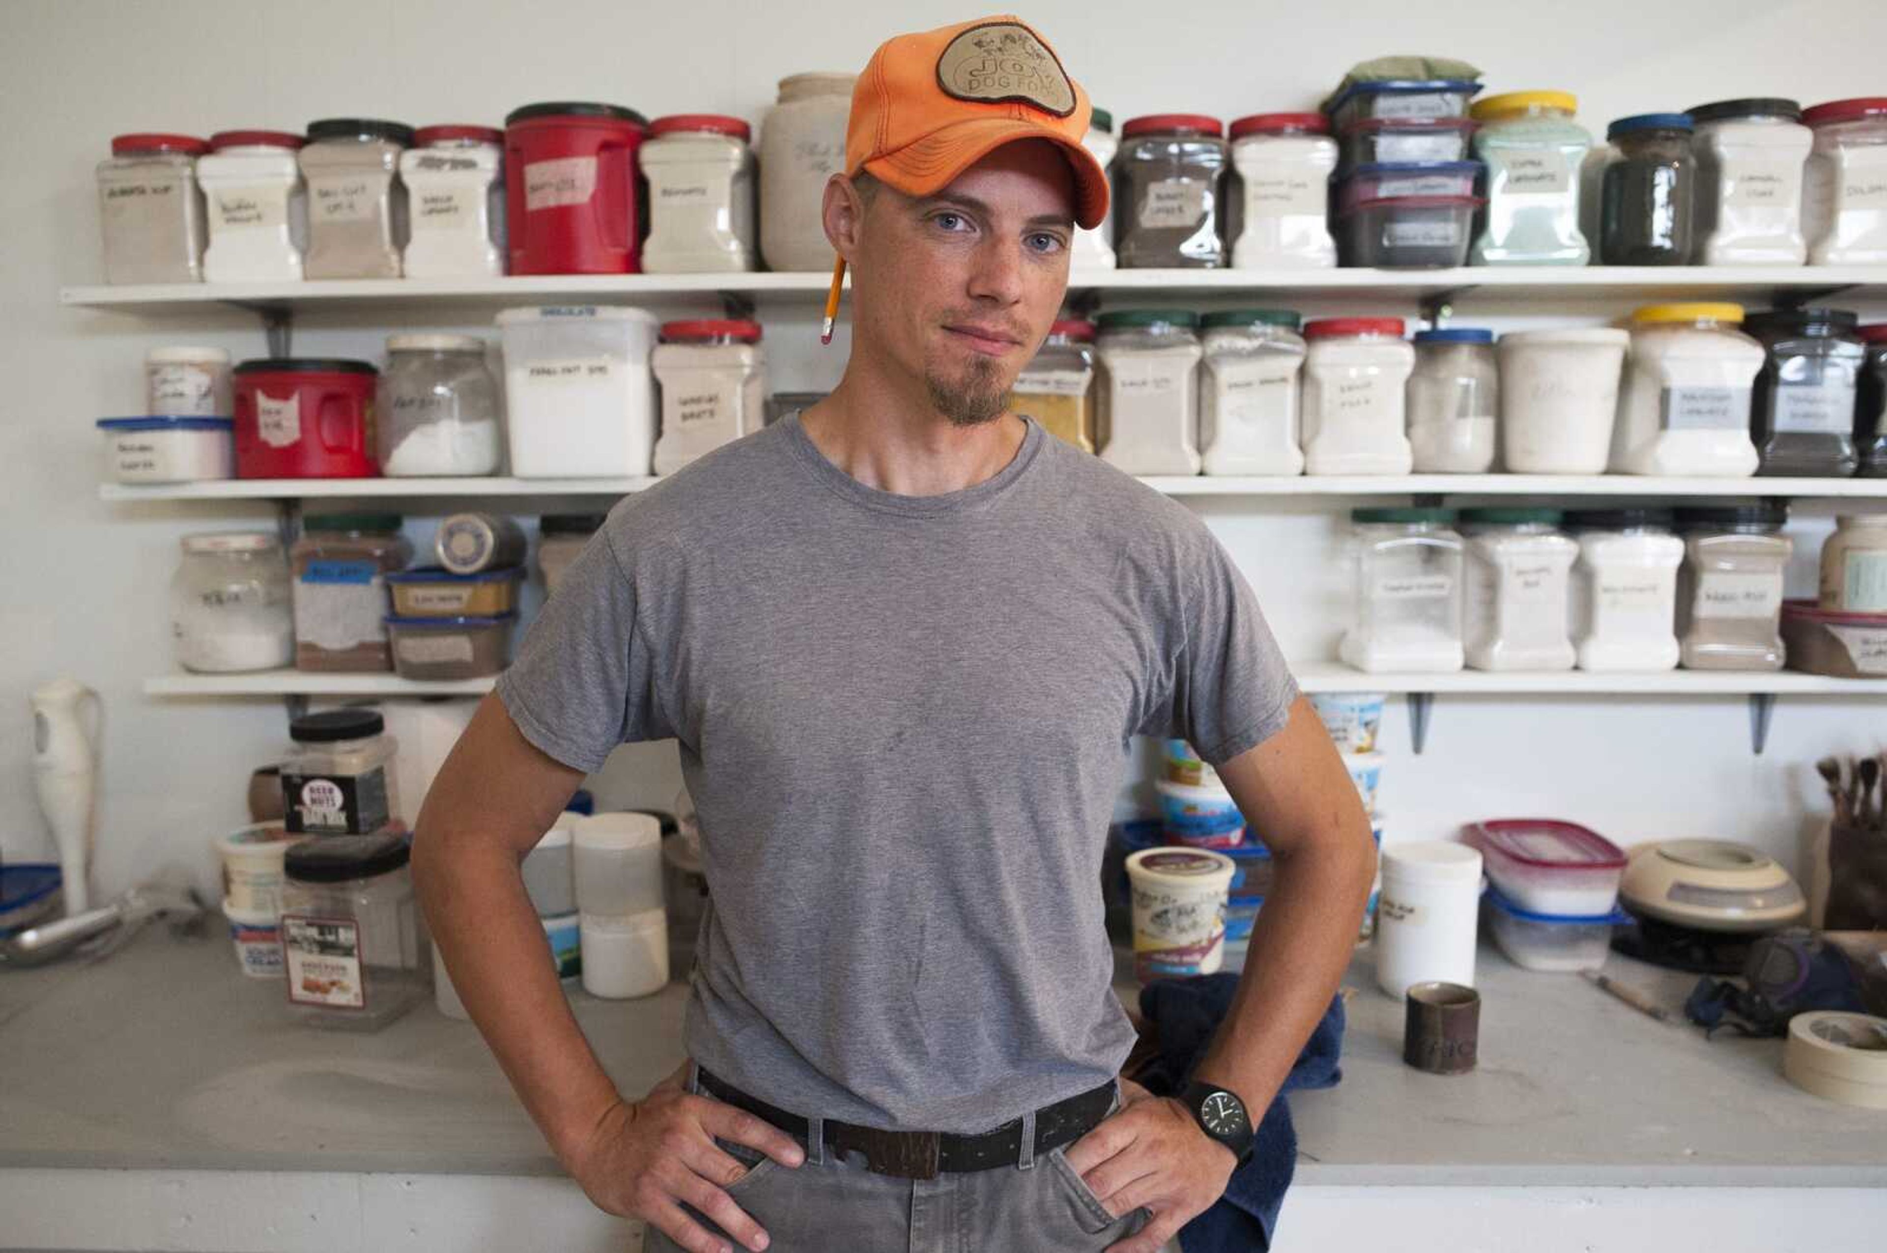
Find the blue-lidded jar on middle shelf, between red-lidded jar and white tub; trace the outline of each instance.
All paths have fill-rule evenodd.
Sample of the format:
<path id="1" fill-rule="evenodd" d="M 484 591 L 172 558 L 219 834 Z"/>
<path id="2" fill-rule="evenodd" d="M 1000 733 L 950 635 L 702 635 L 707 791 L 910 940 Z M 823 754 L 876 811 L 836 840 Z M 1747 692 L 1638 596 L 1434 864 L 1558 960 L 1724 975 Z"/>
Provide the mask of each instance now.
<path id="1" fill-rule="evenodd" d="M 1408 411 L 1415 474 L 1493 470 L 1500 417 L 1495 332 L 1478 326 L 1417 330 Z"/>

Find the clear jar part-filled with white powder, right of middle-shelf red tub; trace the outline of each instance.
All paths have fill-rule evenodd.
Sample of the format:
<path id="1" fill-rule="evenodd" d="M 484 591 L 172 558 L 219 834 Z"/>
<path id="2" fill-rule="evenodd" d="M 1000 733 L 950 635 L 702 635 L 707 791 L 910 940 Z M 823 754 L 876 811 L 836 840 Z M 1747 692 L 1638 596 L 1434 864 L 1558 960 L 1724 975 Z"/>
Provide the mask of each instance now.
<path id="1" fill-rule="evenodd" d="M 477 336 L 389 336 L 374 436 L 387 477 L 498 474 L 498 379 Z"/>

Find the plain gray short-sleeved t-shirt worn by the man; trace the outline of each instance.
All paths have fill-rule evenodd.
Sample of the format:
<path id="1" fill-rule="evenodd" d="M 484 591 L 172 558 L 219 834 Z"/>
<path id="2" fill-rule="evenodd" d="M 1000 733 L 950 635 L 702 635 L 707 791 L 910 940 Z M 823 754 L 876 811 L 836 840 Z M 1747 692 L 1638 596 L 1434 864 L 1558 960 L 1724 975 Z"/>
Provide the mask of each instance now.
<path id="1" fill-rule="evenodd" d="M 1100 860 L 1130 738 L 1223 762 L 1296 683 L 1183 506 L 1028 423 L 944 496 L 798 417 L 625 498 L 498 696 L 557 760 L 681 743 L 693 1059 L 798 1113 L 979 1132 L 1111 1079 Z"/>

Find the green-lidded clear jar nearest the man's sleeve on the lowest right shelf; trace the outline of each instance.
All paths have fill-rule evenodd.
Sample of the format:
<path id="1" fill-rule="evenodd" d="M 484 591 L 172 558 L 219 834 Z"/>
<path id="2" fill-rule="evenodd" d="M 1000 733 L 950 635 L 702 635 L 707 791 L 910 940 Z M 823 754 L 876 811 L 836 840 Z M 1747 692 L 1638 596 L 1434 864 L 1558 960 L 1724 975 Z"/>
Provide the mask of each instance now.
<path id="1" fill-rule="evenodd" d="M 1345 664 L 1372 674 L 1461 670 L 1461 534 L 1453 510 L 1351 510 L 1357 625 Z"/>

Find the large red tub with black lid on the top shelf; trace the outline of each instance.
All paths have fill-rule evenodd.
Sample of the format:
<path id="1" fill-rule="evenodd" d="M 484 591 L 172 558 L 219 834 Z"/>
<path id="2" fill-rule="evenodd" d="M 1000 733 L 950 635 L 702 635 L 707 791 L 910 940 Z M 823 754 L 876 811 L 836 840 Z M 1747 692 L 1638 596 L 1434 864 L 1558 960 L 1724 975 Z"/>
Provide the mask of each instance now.
<path id="1" fill-rule="evenodd" d="M 504 119 L 511 274 L 634 274 L 636 149 L 647 119 L 615 104 L 549 102 Z"/>

